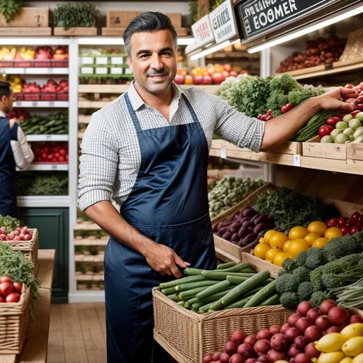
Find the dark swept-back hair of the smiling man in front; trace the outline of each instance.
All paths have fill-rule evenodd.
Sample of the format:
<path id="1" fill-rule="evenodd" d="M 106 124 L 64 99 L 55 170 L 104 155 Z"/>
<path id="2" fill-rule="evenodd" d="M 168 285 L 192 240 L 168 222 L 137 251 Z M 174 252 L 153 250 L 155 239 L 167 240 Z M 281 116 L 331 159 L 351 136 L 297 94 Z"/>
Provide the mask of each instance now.
<path id="1" fill-rule="evenodd" d="M 136 16 L 123 32 L 123 43 L 126 54 L 130 57 L 131 45 L 130 40 L 134 33 L 148 32 L 152 33 L 157 30 L 170 30 L 174 38 L 174 46 L 177 48 L 177 31 L 172 25 L 169 16 L 158 11 L 145 11 Z"/>

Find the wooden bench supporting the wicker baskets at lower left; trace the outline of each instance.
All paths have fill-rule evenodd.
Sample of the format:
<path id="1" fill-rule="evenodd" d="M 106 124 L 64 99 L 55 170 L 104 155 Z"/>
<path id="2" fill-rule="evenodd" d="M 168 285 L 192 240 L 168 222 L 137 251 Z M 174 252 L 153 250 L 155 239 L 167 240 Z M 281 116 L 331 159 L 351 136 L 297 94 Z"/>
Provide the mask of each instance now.
<path id="1" fill-rule="evenodd" d="M 50 322 L 50 301 L 54 274 L 55 250 L 39 250 L 40 281 L 38 298 L 34 308 L 34 323 L 29 323 L 28 336 L 21 354 L 1 354 L 0 363 L 47 362 Z"/>

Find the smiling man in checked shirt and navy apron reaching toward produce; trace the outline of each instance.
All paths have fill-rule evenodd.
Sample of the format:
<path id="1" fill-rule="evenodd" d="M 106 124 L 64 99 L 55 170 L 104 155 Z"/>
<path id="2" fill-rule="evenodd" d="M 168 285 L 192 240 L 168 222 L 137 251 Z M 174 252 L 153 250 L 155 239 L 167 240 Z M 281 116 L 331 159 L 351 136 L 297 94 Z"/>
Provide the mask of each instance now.
<path id="1" fill-rule="evenodd" d="M 79 175 L 80 208 L 111 235 L 104 258 L 108 363 L 150 362 L 152 287 L 181 277 L 189 264 L 216 266 L 207 193 L 213 132 L 267 150 L 320 108 L 354 107 L 340 101 L 354 91 L 335 89 L 264 123 L 173 83 L 177 33 L 162 13 L 133 19 L 123 40 L 135 82 L 92 116 Z M 171 358 L 155 345 L 153 362 Z"/>

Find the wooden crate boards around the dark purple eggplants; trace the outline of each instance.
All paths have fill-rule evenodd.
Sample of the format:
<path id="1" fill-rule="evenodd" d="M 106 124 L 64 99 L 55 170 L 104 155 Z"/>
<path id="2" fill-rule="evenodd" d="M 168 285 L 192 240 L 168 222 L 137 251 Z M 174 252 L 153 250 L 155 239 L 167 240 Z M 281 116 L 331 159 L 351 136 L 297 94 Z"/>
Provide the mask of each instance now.
<path id="1" fill-rule="evenodd" d="M 277 186 L 274 186 L 274 184 L 272 183 L 264 184 L 259 189 L 254 191 L 252 194 L 247 196 L 247 198 L 243 199 L 243 201 L 240 201 L 240 203 L 228 209 L 228 211 L 225 211 L 216 218 L 213 218 L 211 220 L 212 225 L 218 222 L 224 222 L 228 220 L 228 218 L 233 216 L 235 213 L 241 211 L 242 209 L 247 208 L 249 206 L 253 206 L 253 204 L 257 201 L 258 196 L 264 194 L 269 189 L 277 189 Z M 239 247 L 238 245 L 235 245 L 233 242 L 218 237 L 218 235 L 213 235 L 213 239 L 216 252 L 218 253 L 218 257 L 225 261 L 240 262 L 241 252 L 251 250 L 250 246 Z"/>

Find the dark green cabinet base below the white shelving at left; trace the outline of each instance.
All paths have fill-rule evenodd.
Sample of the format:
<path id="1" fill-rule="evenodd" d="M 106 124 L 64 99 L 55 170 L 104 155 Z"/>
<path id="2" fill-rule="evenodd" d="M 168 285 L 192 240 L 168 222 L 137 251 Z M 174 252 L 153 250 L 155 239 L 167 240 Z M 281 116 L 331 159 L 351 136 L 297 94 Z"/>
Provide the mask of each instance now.
<path id="1" fill-rule="evenodd" d="M 18 218 L 39 230 L 39 248 L 55 250 L 52 302 L 68 302 L 69 210 L 68 208 L 18 208 Z"/>

